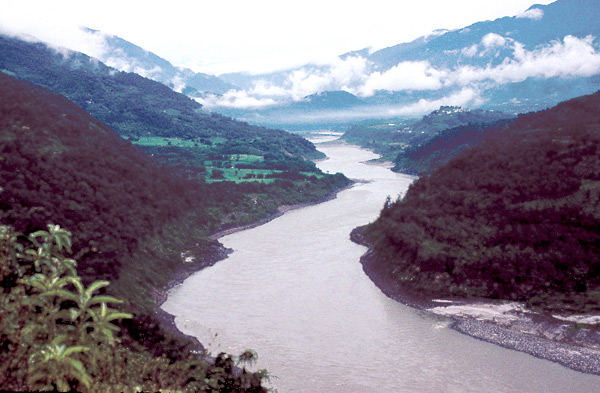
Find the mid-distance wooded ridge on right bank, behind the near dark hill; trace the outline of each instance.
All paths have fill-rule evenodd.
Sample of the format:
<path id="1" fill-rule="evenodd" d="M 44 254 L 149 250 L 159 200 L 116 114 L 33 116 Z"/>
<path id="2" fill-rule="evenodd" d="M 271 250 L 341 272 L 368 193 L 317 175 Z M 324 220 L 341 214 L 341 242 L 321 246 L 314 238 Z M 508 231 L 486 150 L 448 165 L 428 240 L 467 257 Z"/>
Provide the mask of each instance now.
<path id="1" fill-rule="evenodd" d="M 350 127 L 342 140 L 373 149 L 394 171 L 417 174 L 444 164 L 462 148 L 476 143 L 487 126 L 509 122 L 500 111 L 442 106 L 419 120 L 369 120 Z"/>

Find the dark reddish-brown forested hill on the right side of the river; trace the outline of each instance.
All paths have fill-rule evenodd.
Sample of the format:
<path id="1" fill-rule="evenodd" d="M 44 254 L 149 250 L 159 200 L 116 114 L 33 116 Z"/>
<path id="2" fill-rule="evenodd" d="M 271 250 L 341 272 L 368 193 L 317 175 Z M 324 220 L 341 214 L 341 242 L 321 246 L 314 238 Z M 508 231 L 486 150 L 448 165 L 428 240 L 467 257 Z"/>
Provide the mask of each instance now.
<path id="1" fill-rule="evenodd" d="M 600 308 L 600 93 L 521 115 L 357 230 L 374 277 L 427 296 Z"/>

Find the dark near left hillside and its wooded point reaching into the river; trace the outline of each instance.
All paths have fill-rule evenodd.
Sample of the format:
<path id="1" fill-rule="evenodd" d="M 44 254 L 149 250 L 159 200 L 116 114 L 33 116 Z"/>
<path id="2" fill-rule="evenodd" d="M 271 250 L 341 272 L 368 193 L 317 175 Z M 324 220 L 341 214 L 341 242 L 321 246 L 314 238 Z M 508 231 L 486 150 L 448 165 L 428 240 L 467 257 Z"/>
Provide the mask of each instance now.
<path id="1" fill-rule="evenodd" d="M 26 236 L 18 233 L 35 234 L 48 228 L 72 231 L 72 236 L 65 231 L 71 252 L 65 258 L 77 261 L 76 271 L 69 273 L 76 278 L 57 278 L 56 282 L 71 283 L 72 290 L 76 289 L 72 285 L 79 285 L 72 284 L 73 280 L 83 286 L 112 282 L 110 294 L 122 299 L 121 309 L 132 314 L 131 319 L 118 323 L 128 348 L 140 346 L 146 353 L 143 356 L 162 357 L 160 362 L 165 364 L 158 362 L 156 367 L 165 373 L 174 359 L 193 357 L 189 351 L 194 345 L 157 319 L 156 301 L 170 280 L 226 254 L 209 235 L 265 218 L 283 204 L 322 199 L 349 183 L 343 175 L 326 175 L 316 168 L 314 172 L 300 171 L 313 169 L 312 163 L 293 168 L 285 161 L 279 162 L 276 176 L 269 181 L 206 182 L 202 177 L 190 178 L 181 168 L 161 164 L 119 137 L 60 94 L 5 73 L 0 73 L 0 130 L 0 223 L 5 232 L 14 229 L 17 233 L 16 243 L 5 244 L 2 252 L 13 255 L 10 248 L 14 246 L 21 254 L 20 248 L 28 247 Z M 256 160 L 256 165 L 267 161 Z M 37 252 L 36 247 L 32 252 Z M 9 267 L 29 263 L 16 254 L 13 257 L 3 263 Z M 16 285 L 17 273 L 3 269 L 6 307 L 2 307 L 2 320 L 9 323 L 12 317 L 6 313 L 12 310 L 8 306 L 15 299 L 11 291 L 29 294 L 33 289 Z M 33 277 L 39 273 L 35 269 L 27 268 L 19 275 Z M 98 287 L 97 294 L 105 296 L 105 287 Z M 44 292 L 40 296 L 44 297 Z M 44 297 L 43 301 L 47 300 Z M 70 304 L 54 298 L 51 301 L 59 311 Z M 38 315 L 39 311 L 34 308 L 28 312 Z M 15 315 L 21 314 L 17 310 Z M 48 323 L 60 322 L 56 321 Z M 14 343 L 5 336 L 2 340 L 2 356 L 9 356 Z M 54 343 L 57 348 L 67 345 L 59 341 Z M 233 370 L 231 359 L 220 361 Z M 217 367 L 221 371 L 206 367 L 202 370 L 229 378 L 223 367 Z"/>

